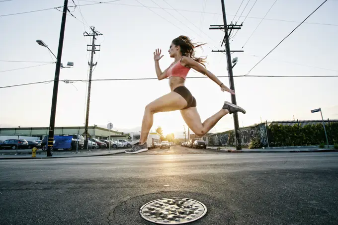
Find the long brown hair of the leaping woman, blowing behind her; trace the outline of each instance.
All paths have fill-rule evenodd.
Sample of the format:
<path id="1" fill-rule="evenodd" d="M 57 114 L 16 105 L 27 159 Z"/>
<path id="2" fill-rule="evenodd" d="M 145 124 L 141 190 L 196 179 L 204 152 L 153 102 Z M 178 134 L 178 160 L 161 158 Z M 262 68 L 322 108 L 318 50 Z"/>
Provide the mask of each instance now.
<path id="1" fill-rule="evenodd" d="M 181 47 L 182 56 L 187 56 L 195 60 L 197 63 L 202 64 L 205 67 L 207 57 L 195 57 L 195 48 L 201 47 L 206 43 L 192 43 L 191 39 L 187 36 L 180 35 L 172 40 L 172 44 Z"/>

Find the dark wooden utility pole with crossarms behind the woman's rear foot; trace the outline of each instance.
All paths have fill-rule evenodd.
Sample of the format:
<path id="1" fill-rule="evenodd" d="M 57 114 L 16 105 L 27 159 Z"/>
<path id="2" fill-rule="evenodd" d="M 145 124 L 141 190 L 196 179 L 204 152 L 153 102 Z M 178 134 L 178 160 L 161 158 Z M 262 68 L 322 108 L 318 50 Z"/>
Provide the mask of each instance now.
<path id="1" fill-rule="evenodd" d="M 229 83 L 230 83 L 230 89 L 235 90 L 235 83 L 234 83 L 234 76 L 233 76 L 233 66 L 231 62 L 231 52 L 243 52 L 242 50 L 237 51 L 230 51 L 230 44 L 229 44 L 229 37 L 232 32 L 232 30 L 240 30 L 243 26 L 243 24 L 227 24 L 227 18 L 225 14 L 225 6 L 224 6 L 224 0 L 221 0 L 222 3 L 222 12 L 223 12 L 223 23 L 224 25 L 210 25 L 210 30 L 224 30 L 225 35 L 222 41 L 221 46 L 223 43 L 225 43 L 225 50 L 216 50 L 212 52 L 226 52 L 227 55 L 227 65 L 228 65 L 228 75 L 229 75 Z M 236 102 L 236 95 L 231 95 L 231 102 L 235 105 L 237 105 Z M 240 137 L 240 125 L 238 122 L 238 113 L 234 113 L 234 125 L 235 125 L 235 136 L 236 136 L 236 150 L 242 150 L 242 141 Z"/>

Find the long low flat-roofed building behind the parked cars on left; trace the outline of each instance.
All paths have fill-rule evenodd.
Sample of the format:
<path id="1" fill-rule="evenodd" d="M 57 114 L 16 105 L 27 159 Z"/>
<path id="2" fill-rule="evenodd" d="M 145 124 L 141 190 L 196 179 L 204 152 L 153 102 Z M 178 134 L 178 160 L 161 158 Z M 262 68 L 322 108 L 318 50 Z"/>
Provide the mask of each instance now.
<path id="1" fill-rule="evenodd" d="M 0 128 L 0 141 L 6 136 L 30 136 L 36 137 L 36 140 L 42 140 L 44 136 L 47 136 L 49 132 L 48 127 L 18 127 L 18 128 Z M 82 135 L 84 133 L 84 127 L 55 127 L 54 135 Z M 91 126 L 88 127 L 88 133 L 92 138 L 96 139 L 108 139 L 109 130 Z M 110 131 L 110 135 L 118 139 L 126 139 L 131 141 L 129 134 L 117 131 Z M 1 138 L 3 137 L 3 138 Z"/>

